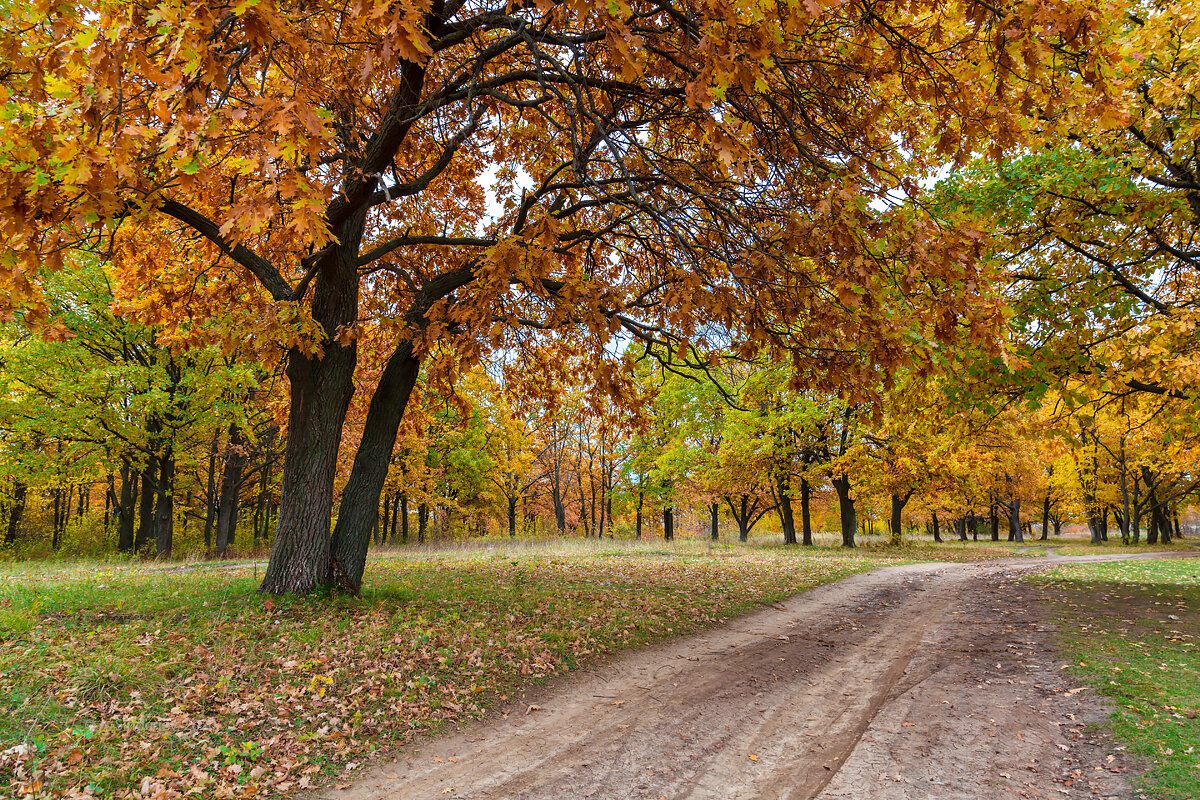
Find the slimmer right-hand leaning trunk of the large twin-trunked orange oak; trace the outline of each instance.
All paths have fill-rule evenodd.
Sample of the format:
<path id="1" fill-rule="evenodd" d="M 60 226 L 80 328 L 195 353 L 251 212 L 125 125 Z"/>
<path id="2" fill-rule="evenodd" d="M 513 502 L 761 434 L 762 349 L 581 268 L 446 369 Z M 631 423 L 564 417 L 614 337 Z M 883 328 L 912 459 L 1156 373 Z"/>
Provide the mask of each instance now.
<path id="1" fill-rule="evenodd" d="M 413 354 L 413 344 L 404 342 L 388 359 L 379 385 L 371 396 L 362 440 L 342 492 L 337 525 L 334 528 L 335 582 L 347 591 L 358 594 L 362 588 L 371 525 L 396 449 L 396 432 L 420 372 L 421 361 Z"/>

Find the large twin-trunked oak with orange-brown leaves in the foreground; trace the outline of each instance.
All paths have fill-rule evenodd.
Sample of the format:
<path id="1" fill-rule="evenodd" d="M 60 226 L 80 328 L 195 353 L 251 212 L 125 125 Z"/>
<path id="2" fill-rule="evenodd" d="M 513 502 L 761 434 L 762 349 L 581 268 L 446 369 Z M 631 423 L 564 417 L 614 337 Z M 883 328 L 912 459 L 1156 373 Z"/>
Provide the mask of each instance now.
<path id="1" fill-rule="evenodd" d="M 624 331 L 701 361 L 713 320 L 853 391 L 914 342 L 985 335 L 950 300 L 976 293 L 976 242 L 870 200 L 1003 142 L 1008 95 L 1037 106 L 1049 48 L 1091 19 L 1024 0 L 6 12 L 6 307 L 44 314 L 40 276 L 82 248 L 164 324 L 253 312 L 290 383 L 269 593 L 359 589 L 434 342 L 570 329 L 600 362 Z M 331 535 L 360 348 L 383 368 Z"/>

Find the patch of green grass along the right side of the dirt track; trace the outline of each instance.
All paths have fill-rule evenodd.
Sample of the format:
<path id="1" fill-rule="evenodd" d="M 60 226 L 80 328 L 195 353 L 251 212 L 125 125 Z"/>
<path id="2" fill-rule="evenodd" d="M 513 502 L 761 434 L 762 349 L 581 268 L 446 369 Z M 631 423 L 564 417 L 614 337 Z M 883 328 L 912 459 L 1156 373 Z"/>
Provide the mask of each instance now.
<path id="1" fill-rule="evenodd" d="M 1073 669 L 1116 706 L 1114 735 L 1151 765 L 1142 788 L 1163 800 L 1200 798 L 1200 560 L 1058 567 Z"/>

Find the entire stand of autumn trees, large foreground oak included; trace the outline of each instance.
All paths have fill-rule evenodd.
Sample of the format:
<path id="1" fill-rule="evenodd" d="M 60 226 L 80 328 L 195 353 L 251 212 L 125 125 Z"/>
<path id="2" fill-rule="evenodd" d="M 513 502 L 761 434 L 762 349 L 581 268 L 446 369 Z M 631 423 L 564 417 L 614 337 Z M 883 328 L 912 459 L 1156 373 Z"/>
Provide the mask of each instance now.
<path id="1" fill-rule="evenodd" d="M 1183 533 L 1188 4 L 6 11 L 10 553 Z"/>

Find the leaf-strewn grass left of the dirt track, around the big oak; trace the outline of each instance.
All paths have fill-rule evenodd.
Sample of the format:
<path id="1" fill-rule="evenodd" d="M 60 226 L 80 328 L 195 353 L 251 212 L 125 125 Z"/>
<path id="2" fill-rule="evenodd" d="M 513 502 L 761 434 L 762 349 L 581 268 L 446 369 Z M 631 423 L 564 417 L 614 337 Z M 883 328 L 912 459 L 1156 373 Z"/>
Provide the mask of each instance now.
<path id="1" fill-rule="evenodd" d="M 4 564 L 0 787 L 266 798 L 344 782 L 602 654 L 882 564 L 1010 554 L 485 542 L 376 555 L 361 597 L 305 599 L 259 596 L 259 563 Z"/>

